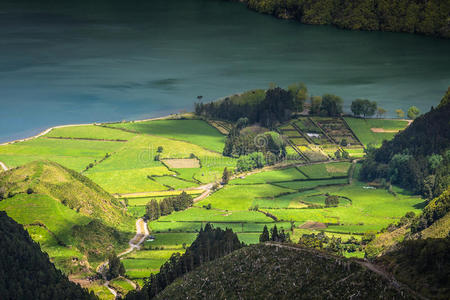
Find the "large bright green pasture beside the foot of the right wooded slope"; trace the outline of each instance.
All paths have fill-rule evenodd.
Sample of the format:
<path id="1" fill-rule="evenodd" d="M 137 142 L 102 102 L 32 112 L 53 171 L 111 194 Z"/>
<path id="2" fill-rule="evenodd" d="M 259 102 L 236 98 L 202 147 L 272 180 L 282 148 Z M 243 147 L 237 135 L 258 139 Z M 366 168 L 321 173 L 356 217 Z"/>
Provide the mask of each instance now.
<path id="1" fill-rule="evenodd" d="M 363 233 L 367 230 L 381 230 L 390 223 L 397 222 L 408 211 L 416 214 L 421 211 L 424 201 L 420 197 L 412 196 L 402 189 L 396 188 L 396 196 L 388 193 L 384 189 L 365 189 L 365 184 L 354 181 L 352 185 L 317 187 L 316 193 L 329 193 L 348 197 L 350 203 L 340 198 L 341 205 L 338 207 L 318 208 L 318 209 L 261 209 L 276 216 L 279 220 L 295 221 L 301 225 L 307 221 L 321 223 L 335 223 L 339 225 L 330 226 L 325 231 Z M 312 194 L 313 195 L 313 194 Z M 292 195 L 280 197 L 287 203 Z M 302 201 L 308 198 L 318 203 L 323 198 L 314 199 L 311 195 L 300 195 Z"/>

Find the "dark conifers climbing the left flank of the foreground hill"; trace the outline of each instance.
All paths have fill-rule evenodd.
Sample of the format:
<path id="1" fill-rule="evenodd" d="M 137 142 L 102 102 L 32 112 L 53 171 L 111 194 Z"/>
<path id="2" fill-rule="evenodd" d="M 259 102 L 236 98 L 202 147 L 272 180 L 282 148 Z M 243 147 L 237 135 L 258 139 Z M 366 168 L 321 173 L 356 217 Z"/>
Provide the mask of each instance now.
<path id="1" fill-rule="evenodd" d="M 159 273 L 150 275 L 140 291 L 131 291 L 125 299 L 152 299 L 177 278 L 198 266 L 225 256 L 244 246 L 231 229 L 222 230 L 206 224 L 183 255 L 174 253 L 161 266 Z"/>

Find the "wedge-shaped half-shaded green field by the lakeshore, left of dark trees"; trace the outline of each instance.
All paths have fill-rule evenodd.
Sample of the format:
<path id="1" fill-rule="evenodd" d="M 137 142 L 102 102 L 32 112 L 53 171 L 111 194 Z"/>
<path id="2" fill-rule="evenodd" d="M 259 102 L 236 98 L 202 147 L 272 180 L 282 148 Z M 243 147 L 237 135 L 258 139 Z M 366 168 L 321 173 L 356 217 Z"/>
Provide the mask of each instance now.
<path id="1" fill-rule="evenodd" d="M 189 142 L 205 149 L 222 153 L 225 137 L 202 120 L 154 120 L 108 124 L 137 133 L 151 134 Z"/>

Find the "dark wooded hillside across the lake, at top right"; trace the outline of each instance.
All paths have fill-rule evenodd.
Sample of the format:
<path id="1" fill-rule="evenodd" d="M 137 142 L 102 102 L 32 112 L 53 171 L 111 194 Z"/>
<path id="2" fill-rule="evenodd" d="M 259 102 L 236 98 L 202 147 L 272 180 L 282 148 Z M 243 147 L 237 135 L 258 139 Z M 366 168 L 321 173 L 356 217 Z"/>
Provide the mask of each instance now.
<path id="1" fill-rule="evenodd" d="M 305 24 L 330 24 L 350 30 L 410 32 L 450 37 L 448 1 L 239 1 L 258 12 L 282 19 L 295 19 Z"/>

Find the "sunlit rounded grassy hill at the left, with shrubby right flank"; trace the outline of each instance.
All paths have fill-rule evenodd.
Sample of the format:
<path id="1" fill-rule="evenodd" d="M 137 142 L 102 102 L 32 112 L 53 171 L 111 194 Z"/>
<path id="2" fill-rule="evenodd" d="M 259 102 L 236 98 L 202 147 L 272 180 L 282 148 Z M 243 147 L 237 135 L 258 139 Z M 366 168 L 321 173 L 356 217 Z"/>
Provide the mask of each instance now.
<path id="1" fill-rule="evenodd" d="M 0 210 L 24 225 L 66 273 L 92 270 L 123 249 L 134 222 L 116 199 L 75 171 L 37 161 L 0 173 Z"/>

